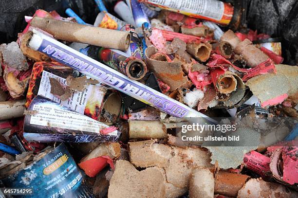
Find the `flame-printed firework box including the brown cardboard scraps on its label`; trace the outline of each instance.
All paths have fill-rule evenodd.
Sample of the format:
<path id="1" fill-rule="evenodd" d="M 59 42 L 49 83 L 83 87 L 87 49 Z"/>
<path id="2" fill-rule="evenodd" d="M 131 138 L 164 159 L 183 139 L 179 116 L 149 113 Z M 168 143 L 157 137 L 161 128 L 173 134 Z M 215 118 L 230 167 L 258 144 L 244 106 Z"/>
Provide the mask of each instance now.
<path id="1" fill-rule="evenodd" d="M 88 85 L 85 76 L 73 78 L 73 72 L 72 68 L 56 62 L 35 63 L 29 82 L 26 107 L 29 107 L 34 97 L 42 95 L 75 112 L 98 120 L 107 90 L 101 86 Z M 66 93 L 67 90 L 69 94 Z M 65 97 L 58 97 L 61 96 L 59 92 Z"/>

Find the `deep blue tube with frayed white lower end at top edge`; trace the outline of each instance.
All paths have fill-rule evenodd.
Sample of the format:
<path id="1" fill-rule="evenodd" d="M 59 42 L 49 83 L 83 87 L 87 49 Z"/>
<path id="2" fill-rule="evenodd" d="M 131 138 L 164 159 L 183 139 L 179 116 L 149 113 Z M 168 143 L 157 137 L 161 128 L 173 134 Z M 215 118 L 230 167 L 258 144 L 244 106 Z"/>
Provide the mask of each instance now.
<path id="1" fill-rule="evenodd" d="M 144 12 L 142 5 L 137 0 L 129 0 L 132 16 L 137 27 L 142 27 L 142 24 L 147 22 L 150 24 L 148 16 Z"/>

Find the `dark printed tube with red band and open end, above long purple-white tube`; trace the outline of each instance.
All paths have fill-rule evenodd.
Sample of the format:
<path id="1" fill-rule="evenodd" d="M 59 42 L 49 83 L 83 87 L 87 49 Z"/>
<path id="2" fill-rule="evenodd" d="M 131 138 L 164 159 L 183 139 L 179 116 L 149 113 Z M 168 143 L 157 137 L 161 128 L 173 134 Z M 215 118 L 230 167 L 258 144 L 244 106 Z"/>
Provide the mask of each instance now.
<path id="1" fill-rule="evenodd" d="M 121 72 L 133 80 L 140 80 L 147 72 L 146 64 L 133 56 L 114 49 L 90 46 L 81 50 L 85 55 L 100 60 L 112 69 Z"/>

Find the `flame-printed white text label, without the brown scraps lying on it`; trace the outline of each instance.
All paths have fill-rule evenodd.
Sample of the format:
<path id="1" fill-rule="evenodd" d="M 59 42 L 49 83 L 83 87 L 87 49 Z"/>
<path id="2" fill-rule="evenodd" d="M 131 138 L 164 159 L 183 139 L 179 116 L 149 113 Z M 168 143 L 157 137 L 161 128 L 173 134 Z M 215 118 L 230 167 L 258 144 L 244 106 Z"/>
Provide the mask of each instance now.
<path id="1" fill-rule="evenodd" d="M 33 66 L 31 80 L 27 92 L 26 108 L 33 98 L 43 95 L 75 112 L 85 114 L 98 120 L 102 110 L 106 89 L 100 86 L 88 85 L 84 91 L 76 91 L 67 101 L 61 101 L 51 93 L 49 78 L 55 78 L 61 85 L 66 86 L 66 78 L 73 74 L 73 69 L 57 62 L 37 62 Z"/>

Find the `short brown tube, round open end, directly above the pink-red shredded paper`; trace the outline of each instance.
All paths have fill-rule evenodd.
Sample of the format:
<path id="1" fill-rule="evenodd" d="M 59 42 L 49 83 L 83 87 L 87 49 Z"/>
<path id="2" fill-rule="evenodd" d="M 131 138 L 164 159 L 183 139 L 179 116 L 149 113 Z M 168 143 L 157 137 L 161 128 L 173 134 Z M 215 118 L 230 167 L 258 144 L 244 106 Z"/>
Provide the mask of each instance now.
<path id="1" fill-rule="evenodd" d="M 209 59 L 212 46 L 209 43 L 187 43 L 186 51 L 197 60 L 205 62 Z"/>

